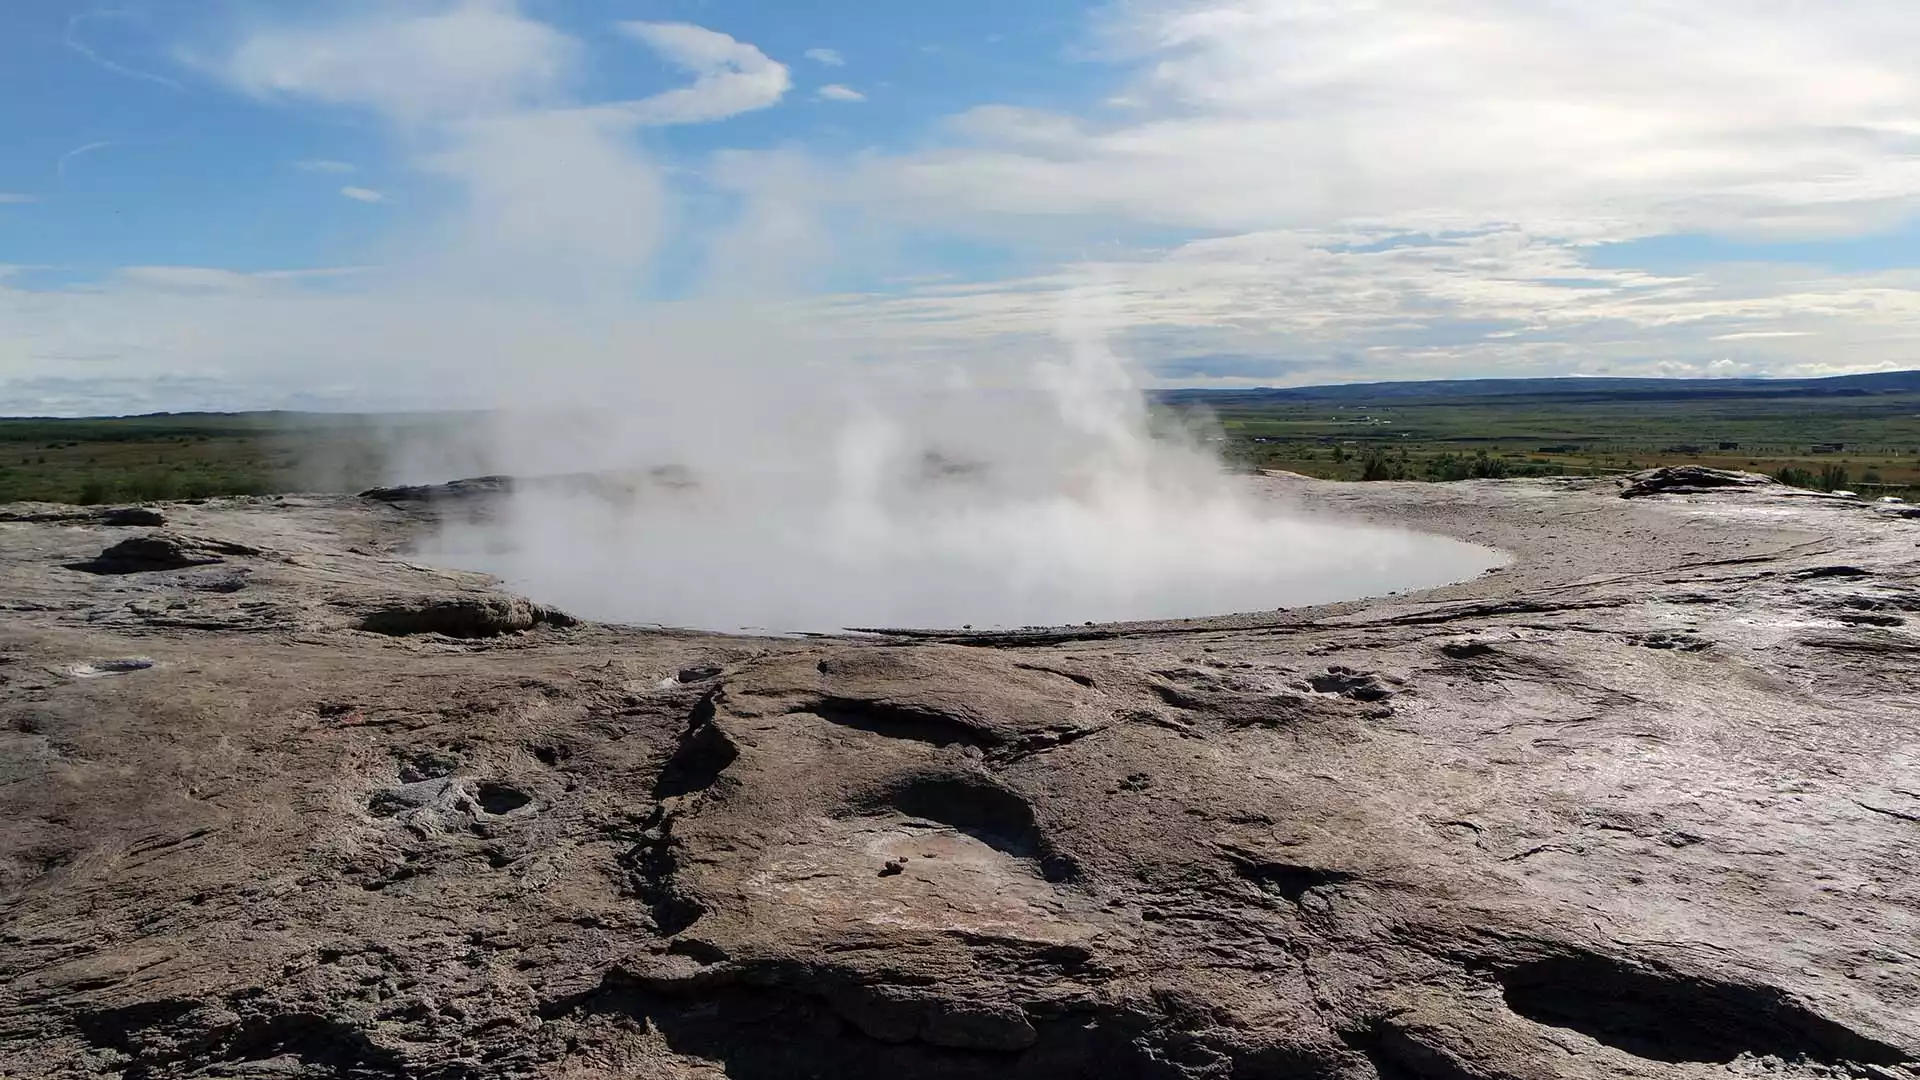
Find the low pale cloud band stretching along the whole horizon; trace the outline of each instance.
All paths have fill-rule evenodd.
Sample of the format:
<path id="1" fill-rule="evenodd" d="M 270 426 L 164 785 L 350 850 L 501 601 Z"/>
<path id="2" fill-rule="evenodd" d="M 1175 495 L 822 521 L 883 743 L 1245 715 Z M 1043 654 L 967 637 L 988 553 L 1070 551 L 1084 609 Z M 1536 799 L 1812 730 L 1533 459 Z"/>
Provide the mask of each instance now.
<path id="1" fill-rule="evenodd" d="M 605 192 L 578 198 L 591 204 Z M 495 200 L 509 196 L 488 194 L 476 211 L 513 209 Z M 526 213 L 515 225 L 524 236 L 488 234 L 505 248 L 484 250 L 482 263 L 497 267 L 526 252 L 538 259 L 534 233 L 547 221 Z M 563 223 L 559 234 L 568 267 L 593 271 L 630 252 L 580 248 L 584 227 Z M 768 242 L 783 250 L 780 238 L 789 234 L 801 254 L 828 240 L 806 231 L 804 215 L 776 206 L 735 238 L 737 261 L 726 275 L 766 261 Z M 190 375 L 200 382 L 159 386 L 217 390 L 211 400 L 230 407 L 319 390 L 344 407 L 445 405 L 455 388 L 468 396 L 461 404 L 484 404 L 503 388 L 566 394 L 578 380 L 636 394 L 737 379 L 741 396 L 755 398 L 755 379 L 851 354 L 1018 371 L 1050 348 L 1062 311 L 1077 307 L 1110 307 L 1117 344 L 1146 365 L 1238 357 L 1212 365 L 1236 384 L 1715 375 L 1728 365 L 1836 375 L 1910 367 L 1920 354 L 1920 269 L 1847 275 L 1747 263 L 1678 277 L 1594 269 L 1584 248 L 1513 231 L 1384 248 L 1371 240 L 1379 234 L 1277 231 L 1027 279 L 914 284 L 897 296 L 672 307 L 584 300 L 564 267 L 538 261 L 524 290 L 518 279 L 476 286 L 455 277 L 467 248 L 434 263 L 432 288 L 409 267 L 324 277 L 131 267 L 56 292 L 0 282 L 0 325 L 10 329 L 0 371 L 56 379 L 71 367 L 54 354 L 113 357 L 96 361 L 92 377 Z M 561 298 L 547 290 L 555 281 L 568 286 Z M 495 284 L 505 288 L 492 292 Z M 772 356 L 781 363 L 768 363 Z M 720 367 L 703 369 L 708 363 Z M 1188 363 L 1175 377 L 1206 380 L 1208 367 Z M 541 379 L 555 384 L 541 388 Z M 27 409 L 0 386 L 0 411 L 10 407 Z"/>

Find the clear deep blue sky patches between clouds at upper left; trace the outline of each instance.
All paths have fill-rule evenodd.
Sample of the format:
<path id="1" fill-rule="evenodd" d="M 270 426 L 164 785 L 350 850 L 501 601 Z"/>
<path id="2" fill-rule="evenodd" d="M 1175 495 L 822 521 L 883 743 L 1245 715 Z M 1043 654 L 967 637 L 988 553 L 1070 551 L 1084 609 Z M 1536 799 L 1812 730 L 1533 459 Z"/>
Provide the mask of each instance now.
<path id="1" fill-rule="evenodd" d="M 553 0 L 526 12 L 589 48 L 578 73 L 588 98 L 643 98 L 684 81 L 612 35 L 622 19 L 751 35 L 791 65 L 795 100 L 785 108 L 655 136 L 664 154 L 693 160 L 730 146 L 904 148 L 925 117 L 966 110 L 983 86 L 995 100 L 1056 106 L 1089 85 L 1068 60 L 1083 33 L 1079 4 L 902 4 L 874 17 L 876 8 L 887 6 Z M 0 8 L 0 190 L 38 200 L 31 213 L 0 217 L 6 261 L 73 277 L 117 265 L 340 265 L 384 229 L 382 215 L 342 198 L 342 186 L 388 200 L 434 194 L 376 117 L 232 94 L 182 67 L 175 50 L 232 33 L 209 10 L 238 21 L 246 6 Z M 829 85 L 866 100 L 818 100 Z"/>

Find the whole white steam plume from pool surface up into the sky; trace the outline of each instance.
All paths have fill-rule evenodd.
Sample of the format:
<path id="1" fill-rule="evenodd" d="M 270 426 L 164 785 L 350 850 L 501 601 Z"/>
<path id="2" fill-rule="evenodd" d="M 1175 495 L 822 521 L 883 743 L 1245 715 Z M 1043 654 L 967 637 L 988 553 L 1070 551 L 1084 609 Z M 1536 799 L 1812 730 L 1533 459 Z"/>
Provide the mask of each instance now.
<path id="1" fill-rule="evenodd" d="M 578 100 L 591 48 L 689 81 Z M 396 454 L 392 480 L 534 482 L 428 557 L 589 617 L 726 630 L 1252 611 L 1490 559 L 1263 513 L 1204 444 L 1154 430 L 1098 282 L 1054 279 L 991 336 L 818 296 L 829 269 L 883 279 L 852 252 L 924 223 L 814 198 L 803 152 L 649 152 L 655 129 L 781 102 L 787 69 L 749 42 L 684 23 L 588 42 L 511 0 L 419 0 L 255 25 L 202 61 L 263 100 L 372 113 L 411 165 L 384 269 L 221 332 L 305 386 L 486 407 Z M 732 223 L 685 213 L 701 200 Z"/>

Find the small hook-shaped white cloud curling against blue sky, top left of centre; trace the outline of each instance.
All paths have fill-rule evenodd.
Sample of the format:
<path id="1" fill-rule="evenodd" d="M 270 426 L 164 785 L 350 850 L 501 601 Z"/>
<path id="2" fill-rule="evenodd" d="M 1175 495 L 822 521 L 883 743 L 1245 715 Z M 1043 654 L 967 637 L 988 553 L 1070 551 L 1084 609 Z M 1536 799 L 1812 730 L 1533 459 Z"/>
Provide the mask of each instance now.
<path id="1" fill-rule="evenodd" d="M 783 63 L 720 31 L 691 23 L 620 23 L 620 33 L 693 73 L 693 85 L 666 90 L 622 111 L 639 123 L 703 123 L 774 106 L 793 86 Z"/>

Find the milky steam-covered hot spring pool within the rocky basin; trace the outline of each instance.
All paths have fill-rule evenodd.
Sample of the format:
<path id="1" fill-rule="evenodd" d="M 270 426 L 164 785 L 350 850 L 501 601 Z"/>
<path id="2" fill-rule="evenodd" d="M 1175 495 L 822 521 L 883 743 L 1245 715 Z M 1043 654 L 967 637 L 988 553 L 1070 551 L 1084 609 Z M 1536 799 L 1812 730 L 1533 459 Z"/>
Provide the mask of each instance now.
<path id="1" fill-rule="evenodd" d="M 783 505 L 778 492 L 733 503 L 705 486 L 516 490 L 503 513 L 447 525 L 419 557 L 586 619 L 722 632 L 1196 619 L 1432 588 L 1507 561 L 1258 498 L 1096 486 Z"/>

